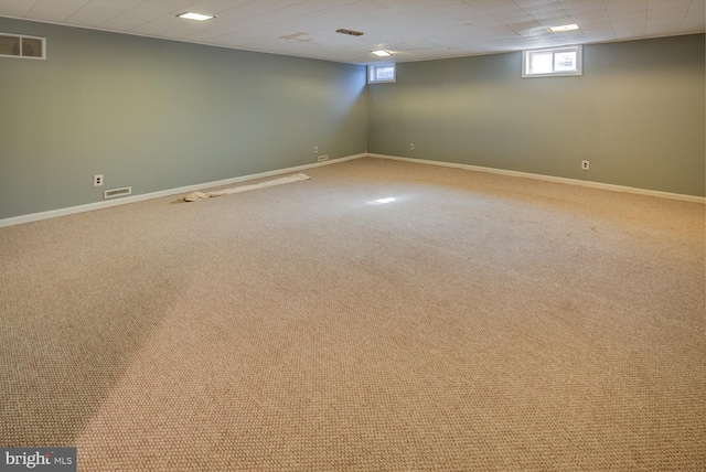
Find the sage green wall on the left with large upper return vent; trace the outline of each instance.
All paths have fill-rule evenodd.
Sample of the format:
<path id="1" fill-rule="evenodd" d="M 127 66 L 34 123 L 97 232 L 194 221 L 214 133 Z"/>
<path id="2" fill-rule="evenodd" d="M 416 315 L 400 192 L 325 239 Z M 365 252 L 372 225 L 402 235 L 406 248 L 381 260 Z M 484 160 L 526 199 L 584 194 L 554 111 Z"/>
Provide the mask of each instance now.
<path id="1" fill-rule="evenodd" d="M 2 18 L 0 32 L 49 52 L 0 57 L 0 218 L 366 148 L 363 66 Z"/>

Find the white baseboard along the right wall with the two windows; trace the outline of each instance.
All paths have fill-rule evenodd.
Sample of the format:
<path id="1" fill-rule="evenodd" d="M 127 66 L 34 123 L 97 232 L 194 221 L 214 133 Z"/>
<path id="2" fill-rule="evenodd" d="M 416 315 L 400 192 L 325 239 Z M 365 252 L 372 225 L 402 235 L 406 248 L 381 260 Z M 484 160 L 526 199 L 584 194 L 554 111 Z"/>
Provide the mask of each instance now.
<path id="1" fill-rule="evenodd" d="M 506 171 L 503 169 L 493 169 L 493 168 L 483 168 L 479 165 L 469 165 L 469 164 L 457 164 L 453 162 L 442 162 L 442 161 L 428 161 L 424 159 L 414 159 L 414 158 L 399 158 L 396 155 L 385 155 L 385 154 L 367 154 L 371 158 L 379 158 L 379 159 L 392 159 L 395 161 L 405 161 L 405 162 L 414 162 L 417 164 L 428 164 L 428 165 L 438 165 L 443 168 L 453 168 L 453 169 L 464 169 L 469 171 L 477 172 L 488 172 L 500 175 L 510 175 L 510 176 L 518 176 L 524 179 L 534 179 L 542 180 L 545 182 L 557 182 L 565 183 L 568 185 L 579 185 L 587 186 L 589 189 L 599 189 L 599 190 L 610 190 L 612 192 L 622 192 L 622 193 L 634 193 L 638 195 L 648 195 L 648 196 L 657 196 L 660 199 L 670 199 L 670 200 L 680 200 L 683 202 L 692 202 L 692 203 L 702 203 L 706 204 L 706 197 L 704 196 L 695 196 L 695 195 L 683 195 L 681 193 L 670 193 L 670 192 L 660 192 L 656 190 L 645 190 L 645 189 L 637 189 L 632 186 L 623 186 L 623 185 L 614 185 L 610 183 L 600 183 L 600 182 L 587 182 L 582 180 L 576 179 L 567 179 L 567 178 L 558 178 L 552 175 L 543 175 L 543 174 L 533 174 L 528 172 L 518 172 L 518 171 Z"/>

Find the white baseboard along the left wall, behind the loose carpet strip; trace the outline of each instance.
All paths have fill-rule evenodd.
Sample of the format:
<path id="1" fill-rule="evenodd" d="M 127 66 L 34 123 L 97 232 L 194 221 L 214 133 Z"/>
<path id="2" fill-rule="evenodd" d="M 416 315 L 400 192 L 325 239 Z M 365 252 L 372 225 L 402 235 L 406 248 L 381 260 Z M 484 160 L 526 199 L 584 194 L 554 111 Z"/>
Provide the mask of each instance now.
<path id="1" fill-rule="evenodd" d="M 119 199 L 119 200 L 88 203 L 85 205 L 69 206 L 67 208 L 58 208 L 58 210 L 51 210 L 47 212 L 31 213 L 29 215 L 13 216 L 10 218 L 0 219 L 0 228 L 7 227 L 7 226 L 21 225 L 24 223 L 39 222 L 42 219 L 56 218 L 58 216 L 73 215 L 76 213 L 92 212 L 94 210 L 109 208 L 111 206 L 126 205 L 128 203 L 143 202 L 146 200 L 160 199 L 162 196 L 170 196 L 179 193 L 196 192 L 199 190 L 211 189 L 211 187 L 221 186 L 221 185 L 229 185 L 229 184 L 245 182 L 245 181 L 255 180 L 255 179 L 265 179 L 268 176 L 280 175 L 280 174 L 290 173 L 290 172 L 300 172 L 306 169 L 319 168 L 322 165 L 330 165 L 330 164 L 335 164 L 338 162 L 344 162 L 353 159 L 364 158 L 365 155 L 367 154 L 347 155 L 345 158 L 332 159 L 330 161 L 314 162 L 311 164 L 297 165 L 297 167 L 287 168 L 287 169 L 278 169 L 275 171 L 261 172 L 261 173 L 250 174 L 250 175 L 242 175 L 242 176 L 224 179 L 215 182 L 206 182 L 206 183 L 200 183 L 195 185 L 181 186 L 178 189 L 169 189 L 160 192 L 143 193 L 141 195 L 126 196 L 125 199 Z"/>

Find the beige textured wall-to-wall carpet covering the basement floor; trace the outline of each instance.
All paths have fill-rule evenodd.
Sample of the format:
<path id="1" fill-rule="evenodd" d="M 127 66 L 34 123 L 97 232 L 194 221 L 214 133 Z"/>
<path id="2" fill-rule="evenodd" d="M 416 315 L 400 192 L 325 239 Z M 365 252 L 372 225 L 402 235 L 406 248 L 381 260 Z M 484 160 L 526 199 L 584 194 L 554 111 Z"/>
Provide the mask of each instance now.
<path id="1" fill-rule="evenodd" d="M 0 229 L 0 446 L 82 471 L 705 470 L 704 205 L 307 173 Z"/>

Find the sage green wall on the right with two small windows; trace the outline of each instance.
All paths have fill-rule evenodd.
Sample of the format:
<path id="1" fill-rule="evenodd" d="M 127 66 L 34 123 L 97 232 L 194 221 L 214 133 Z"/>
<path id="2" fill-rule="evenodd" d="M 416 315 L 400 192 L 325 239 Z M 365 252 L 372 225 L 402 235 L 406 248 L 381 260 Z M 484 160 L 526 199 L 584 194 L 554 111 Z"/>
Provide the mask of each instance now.
<path id="1" fill-rule="evenodd" d="M 704 34 L 585 45 L 577 77 L 521 61 L 398 64 L 368 86 L 368 151 L 704 196 Z"/>

